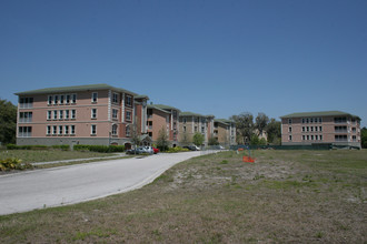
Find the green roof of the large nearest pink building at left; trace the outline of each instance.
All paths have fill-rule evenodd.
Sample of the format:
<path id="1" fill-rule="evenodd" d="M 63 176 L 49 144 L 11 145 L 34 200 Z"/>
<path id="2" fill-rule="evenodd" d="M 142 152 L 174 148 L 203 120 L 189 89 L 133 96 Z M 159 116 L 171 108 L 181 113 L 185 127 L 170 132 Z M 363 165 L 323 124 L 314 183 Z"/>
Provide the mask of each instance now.
<path id="1" fill-rule="evenodd" d="M 88 91 L 88 90 L 113 90 L 123 93 L 130 93 L 132 95 L 138 95 L 135 92 L 115 88 L 109 84 L 87 84 L 87 85 L 73 85 L 73 87 L 61 87 L 61 88 L 44 88 L 24 92 L 14 93 L 16 95 L 30 95 L 30 94 L 44 94 L 44 93 L 61 93 L 61 92 L 78 92 L 78 91 Z"/>

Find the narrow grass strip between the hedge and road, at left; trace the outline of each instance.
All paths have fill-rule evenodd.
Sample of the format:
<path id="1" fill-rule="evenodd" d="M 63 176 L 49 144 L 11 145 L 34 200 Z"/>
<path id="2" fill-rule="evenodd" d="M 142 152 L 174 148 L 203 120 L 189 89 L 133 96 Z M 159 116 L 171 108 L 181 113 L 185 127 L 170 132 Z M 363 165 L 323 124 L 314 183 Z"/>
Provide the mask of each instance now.
<path id="1" fill-rule="evenodd" d="M 113 153 L 60 150 L 0 150 L 0 160 L 17 157 L 24 163 L 111 156 Z"/>

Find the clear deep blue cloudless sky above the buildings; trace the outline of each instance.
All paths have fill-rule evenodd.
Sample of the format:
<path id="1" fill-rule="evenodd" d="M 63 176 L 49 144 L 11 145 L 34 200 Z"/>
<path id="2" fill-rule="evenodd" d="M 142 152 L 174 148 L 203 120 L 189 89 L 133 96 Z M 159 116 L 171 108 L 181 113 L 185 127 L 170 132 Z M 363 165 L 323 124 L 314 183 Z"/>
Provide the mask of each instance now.
<path id="1" fill-rule="evenodd" d="M 0 98 L 108 83 L 229 118 L 367 125 L 366 0 L 0 0 Z"/>

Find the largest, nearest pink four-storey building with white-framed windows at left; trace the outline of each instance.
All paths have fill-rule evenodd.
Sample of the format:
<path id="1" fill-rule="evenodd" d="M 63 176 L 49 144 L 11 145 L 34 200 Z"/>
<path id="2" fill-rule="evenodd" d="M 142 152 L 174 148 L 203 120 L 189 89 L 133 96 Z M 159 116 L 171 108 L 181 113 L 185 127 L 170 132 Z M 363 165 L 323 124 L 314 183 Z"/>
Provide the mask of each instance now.
<path id="1" fill-rule="evenodd" d="M 131 145 L 146 132 L 146 95 L 108 84 L 49 88 L 19 96 L 17 144 Z"/>

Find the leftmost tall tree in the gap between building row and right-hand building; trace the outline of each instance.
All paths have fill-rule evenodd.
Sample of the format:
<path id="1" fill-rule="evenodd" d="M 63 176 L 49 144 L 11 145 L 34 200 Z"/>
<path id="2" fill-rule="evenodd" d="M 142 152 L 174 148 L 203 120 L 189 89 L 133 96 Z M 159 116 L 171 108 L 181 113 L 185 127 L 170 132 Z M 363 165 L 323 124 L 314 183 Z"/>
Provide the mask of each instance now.
<path id="1" fill-rule="evenodd" d="M 237 129 L 237 142 L 246 144 L 250 141 L 254 134 L 254 116 L 251 113 L 246 112 L 239 115 L 232 115 L 230 120 L 235 121 Z"/>

